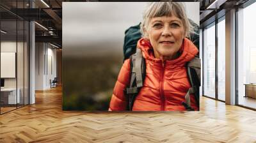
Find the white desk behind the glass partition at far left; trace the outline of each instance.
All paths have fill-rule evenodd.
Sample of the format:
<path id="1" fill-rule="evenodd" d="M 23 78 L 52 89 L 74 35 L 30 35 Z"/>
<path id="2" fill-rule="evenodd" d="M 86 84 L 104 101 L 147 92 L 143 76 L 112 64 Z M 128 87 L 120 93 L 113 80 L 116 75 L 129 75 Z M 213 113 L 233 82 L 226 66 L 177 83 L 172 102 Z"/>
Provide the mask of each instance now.
<path id="1" fill-rule="evenodd" d="M 18 94 L 16 98 L 16 88 L 1 89 L 1 102 L 4 104 L 16 104 L 16 101 L 20 103 L 20 89 L 18 88 L 17 91 Z"/>

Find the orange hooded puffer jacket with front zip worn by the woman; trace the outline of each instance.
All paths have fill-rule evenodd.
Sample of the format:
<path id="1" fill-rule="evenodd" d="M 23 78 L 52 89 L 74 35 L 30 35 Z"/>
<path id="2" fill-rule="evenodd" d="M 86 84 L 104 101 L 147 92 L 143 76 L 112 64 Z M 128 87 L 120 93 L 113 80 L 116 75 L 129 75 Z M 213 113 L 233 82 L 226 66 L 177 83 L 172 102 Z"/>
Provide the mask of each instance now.
<path id="1" fill-rule="evenodd" d="M 184 38 L 177 59 L 163 61 L 154 57 L 150 42 L 144 38 L 138 41 L 146 64 L 146 77 L 140 93 L 136 96 L 132 110 L 159 111 L 159 110 L 186 110 L 182 105 L 188 92 L 189 84 L 186 72 L 186 63 L 191 61 L 198 49 Z M 109 110 L 126 110 L 127 98 L 124 89 L 130 82 L 130 59 L 125 60 L 111 98 Z M 190 94 L 191 107 L 196 107 L 195 97 Z"/>

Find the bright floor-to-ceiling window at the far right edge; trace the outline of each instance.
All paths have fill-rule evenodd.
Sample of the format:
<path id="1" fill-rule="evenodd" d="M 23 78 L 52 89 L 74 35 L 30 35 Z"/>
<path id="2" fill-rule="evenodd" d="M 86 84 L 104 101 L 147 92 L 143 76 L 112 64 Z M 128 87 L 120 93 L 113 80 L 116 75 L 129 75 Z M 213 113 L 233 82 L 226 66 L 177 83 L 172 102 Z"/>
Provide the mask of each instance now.
<path id="1" fill-rule="evenodd" d="M 256 109 L 256 3 L 237 11 L 237 90 L 238 104 Z M 248 89 L 246 87 L 249 87 Z"/>

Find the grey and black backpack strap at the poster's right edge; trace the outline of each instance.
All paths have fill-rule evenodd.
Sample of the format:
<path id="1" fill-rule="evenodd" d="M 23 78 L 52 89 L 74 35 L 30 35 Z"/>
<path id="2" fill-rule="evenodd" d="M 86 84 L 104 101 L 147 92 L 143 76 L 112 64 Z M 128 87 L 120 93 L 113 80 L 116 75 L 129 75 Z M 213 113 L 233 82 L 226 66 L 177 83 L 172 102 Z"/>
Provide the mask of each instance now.
<path id="1" fill-rule="evenodd" d="M 182 103 L 187 110 L 193 110 L 191 108 L 190 103 L 190 94 L 195 95 L 196 105 L 199 108 L 199 87 L 200 87 L 200 81 L 201 81 L 201 59 L 198 56 L 195 56 L 194 59 L 188 62 L 187 64 L 187 74 L 188 79 L 191 84 L 191 87 L 188 90 L 188 93 L 186 93 L 185 96 L 185 103 Z"/>

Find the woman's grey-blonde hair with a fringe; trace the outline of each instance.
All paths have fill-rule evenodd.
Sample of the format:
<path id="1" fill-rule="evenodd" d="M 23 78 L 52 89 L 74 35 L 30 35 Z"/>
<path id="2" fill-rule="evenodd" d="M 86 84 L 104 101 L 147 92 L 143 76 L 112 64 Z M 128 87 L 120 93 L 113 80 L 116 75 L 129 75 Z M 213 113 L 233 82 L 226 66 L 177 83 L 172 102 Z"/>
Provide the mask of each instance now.
<path id="1" fill-rule="evenodd" d="M 184 26 L 185 36 L 189 37 L 190 33 L 195 33 L 194 27 L 190 24 L 186 15 L 184 4 L 180 2 L 153 2 L 150 3 L 147 10 L 143 13 L 143 20 L 140 24 L 142 36 L 145 36 L 150 19 L 154 17 L 175 16 L 178 17 Z"/>

